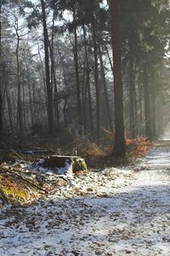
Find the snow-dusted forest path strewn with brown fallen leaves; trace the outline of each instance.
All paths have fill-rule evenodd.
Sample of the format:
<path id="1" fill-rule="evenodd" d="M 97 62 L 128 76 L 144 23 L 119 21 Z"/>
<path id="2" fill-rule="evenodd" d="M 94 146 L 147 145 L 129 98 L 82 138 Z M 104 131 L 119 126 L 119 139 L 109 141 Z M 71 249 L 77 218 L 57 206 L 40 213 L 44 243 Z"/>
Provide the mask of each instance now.
<path id="1" fill-rule="evenodd" d="M 3 207 L 0 255 L 170 255 L 170 146 L 106 168 L 31 206 Z"/>

